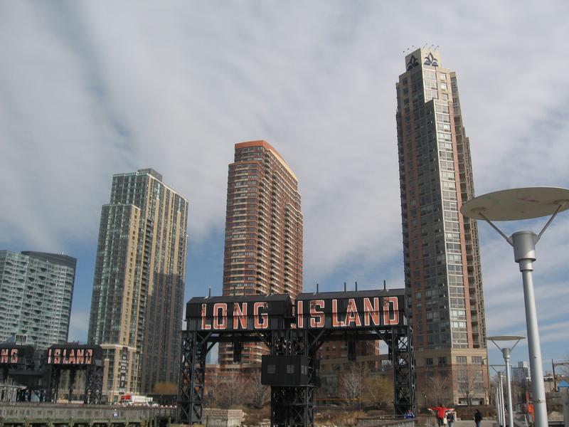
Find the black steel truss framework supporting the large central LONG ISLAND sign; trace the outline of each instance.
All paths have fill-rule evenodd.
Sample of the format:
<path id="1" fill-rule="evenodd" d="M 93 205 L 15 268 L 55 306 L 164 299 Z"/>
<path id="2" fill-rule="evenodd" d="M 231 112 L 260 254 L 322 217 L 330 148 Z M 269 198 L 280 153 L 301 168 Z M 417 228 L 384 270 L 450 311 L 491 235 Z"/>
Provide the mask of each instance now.
<path id="1" fill-rule="evenodd" d="M 306 386 L 271 387 L 272 427 L 314 426 L 314 388 L 319 386 L 317 351 L 326 341 L 382 339 L 388 344 L 393 364 L 393 393 L 395 413 L 409 408 L 415 411 L 415 360 L 413 330 L 410 326 L 370 328 L 346 331 L 332 329 L 291 329 L 240 332 L 184 331 L 182 363 L 179 376 L 179 423 L 201 423 L 203 390 L 206 377 L 206 354 L 218 342 L 265 342 L 270 354 L 297 355 L 309 358 L 309 381 Z"/>

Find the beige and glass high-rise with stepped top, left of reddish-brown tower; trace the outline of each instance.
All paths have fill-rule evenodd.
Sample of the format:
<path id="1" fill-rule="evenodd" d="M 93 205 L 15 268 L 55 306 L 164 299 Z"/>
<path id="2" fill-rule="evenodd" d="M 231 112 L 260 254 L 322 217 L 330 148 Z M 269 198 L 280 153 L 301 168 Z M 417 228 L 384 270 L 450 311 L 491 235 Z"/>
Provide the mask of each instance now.
<path id="1" fill-rule="evenodd" d="M 102 206 L 89 342 L 108 359 L 103 392 L 150 393 L 177 383 L 188 201 L 152 169 L 117 174 Z"/>

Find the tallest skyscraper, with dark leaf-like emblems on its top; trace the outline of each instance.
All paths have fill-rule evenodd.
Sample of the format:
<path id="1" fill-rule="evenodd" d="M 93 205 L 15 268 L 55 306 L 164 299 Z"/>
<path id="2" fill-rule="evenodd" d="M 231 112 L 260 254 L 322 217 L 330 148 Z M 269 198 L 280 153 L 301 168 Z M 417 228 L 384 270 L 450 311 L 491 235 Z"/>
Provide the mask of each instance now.
<path id="1" fill-rule="evenodd" d="M 435 399 L 442 385 L 448 403 L 477 403 L 487 384 L 486 327 L 477 223 L 459 212 L 474 184 L 457 76 L 430 49 L 410 53 L 405 67 L 396 117 L 418 390 Z"/>

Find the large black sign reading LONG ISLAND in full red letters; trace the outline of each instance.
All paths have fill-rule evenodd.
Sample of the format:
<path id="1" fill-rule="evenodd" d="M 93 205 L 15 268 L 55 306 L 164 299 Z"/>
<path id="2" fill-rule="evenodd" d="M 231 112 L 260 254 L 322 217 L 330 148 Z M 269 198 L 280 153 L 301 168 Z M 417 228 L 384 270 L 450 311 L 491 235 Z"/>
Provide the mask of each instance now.
<path id="1" fill-rule="evenodd" d="M 239 332 L 282 328 L 353 330 L 405 325 L 403 290 L 289 295 L 195 297 L 186 307 L 188 330 Z"/>

